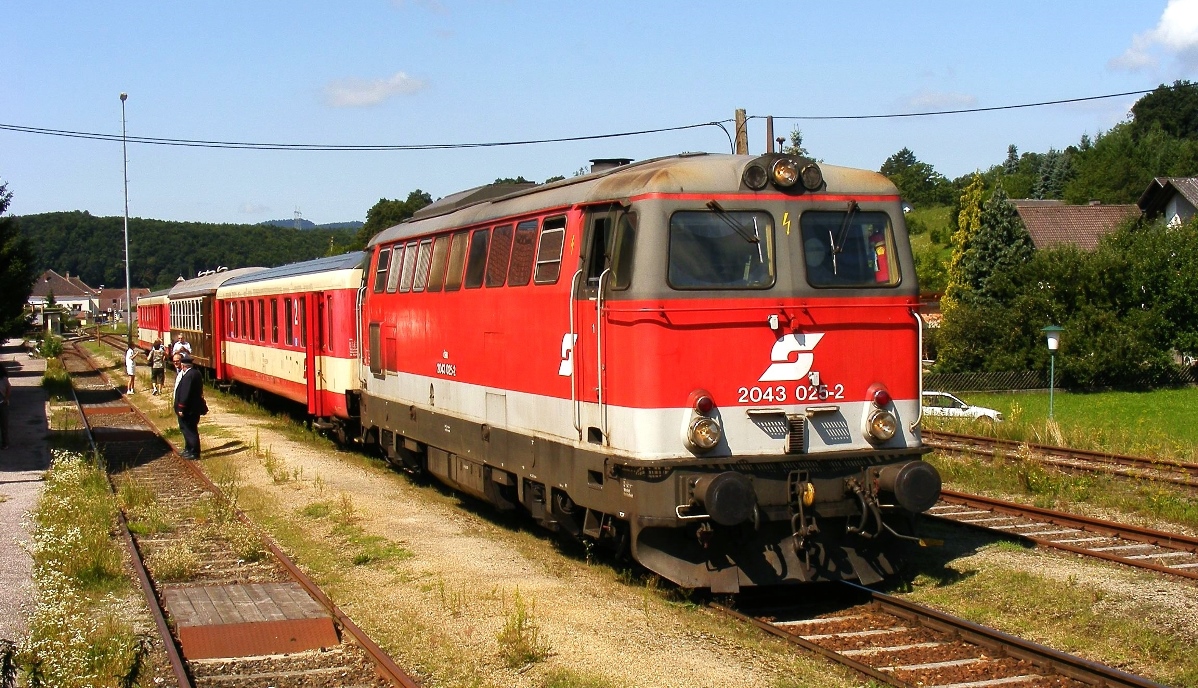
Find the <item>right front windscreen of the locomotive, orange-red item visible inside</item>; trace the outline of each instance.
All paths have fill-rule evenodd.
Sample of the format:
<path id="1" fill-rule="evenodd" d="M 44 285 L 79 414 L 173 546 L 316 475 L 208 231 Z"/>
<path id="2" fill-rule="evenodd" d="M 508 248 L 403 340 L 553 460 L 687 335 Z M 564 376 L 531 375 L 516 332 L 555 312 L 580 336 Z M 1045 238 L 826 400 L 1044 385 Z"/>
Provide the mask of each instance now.
<path id="1" fill-rule="evenodd" d="M 894 286 L 898 260 L 890 216 L 809 211 L 799 222 L 807 283 L 817 288 Z"/>

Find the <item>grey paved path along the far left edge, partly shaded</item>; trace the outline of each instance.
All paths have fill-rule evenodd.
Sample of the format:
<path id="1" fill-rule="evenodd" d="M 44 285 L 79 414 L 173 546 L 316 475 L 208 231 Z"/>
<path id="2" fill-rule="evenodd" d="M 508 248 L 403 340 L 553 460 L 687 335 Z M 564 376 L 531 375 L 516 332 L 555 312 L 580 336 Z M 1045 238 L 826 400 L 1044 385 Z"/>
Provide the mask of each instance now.
<path id="1" fill-rule="evenodd" d="M 22 521 L 42 494 L 42 472 L 50 465 L 47 447 L 46 361 L 30 358 L 19 339 L 0 345 L 0 364 L 12 382 L 8 427 L 10 448 L 0 449 L 0 638 L 24 638 L 25 620 L 32 608 L 32 561 L 22 543 L 29 532 Z"/>

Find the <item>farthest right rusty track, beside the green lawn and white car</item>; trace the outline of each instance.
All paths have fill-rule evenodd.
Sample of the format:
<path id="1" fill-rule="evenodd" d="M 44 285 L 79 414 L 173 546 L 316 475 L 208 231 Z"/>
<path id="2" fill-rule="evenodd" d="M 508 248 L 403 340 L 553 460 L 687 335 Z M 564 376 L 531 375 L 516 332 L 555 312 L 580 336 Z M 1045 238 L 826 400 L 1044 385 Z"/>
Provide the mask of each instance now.
<path id="1" fill-rule="evenodd" d="M 1198 490 L 1198 463 L 1175 459 L 1150 459 L 1111 452 L 1071 449 L 1051 445 L 979 437 L 940 430 L 922 430 L 924 443 L 942 452 L 957 454 L 1016 455 L 1030 452 L 1036 460 L 1066 471 L 1103 472 L 1152 479 Z"/>

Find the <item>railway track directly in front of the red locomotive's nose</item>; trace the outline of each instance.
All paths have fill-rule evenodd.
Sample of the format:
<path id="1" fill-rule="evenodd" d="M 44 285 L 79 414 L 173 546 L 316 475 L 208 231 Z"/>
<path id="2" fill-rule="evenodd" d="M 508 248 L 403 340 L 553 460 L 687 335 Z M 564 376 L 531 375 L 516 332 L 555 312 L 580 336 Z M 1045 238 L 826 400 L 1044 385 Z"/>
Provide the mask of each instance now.
<path id="1" fill-rule="evenodd" d="M 712 606 L 888 686 L 902 688 L 1157 687 L 926 606 L 843 584 L 834 611 L 810 606 Z M 837 596 L 839 597 L 839 596 Z M 855 604 L 854 604 L 855 602 Z"/>

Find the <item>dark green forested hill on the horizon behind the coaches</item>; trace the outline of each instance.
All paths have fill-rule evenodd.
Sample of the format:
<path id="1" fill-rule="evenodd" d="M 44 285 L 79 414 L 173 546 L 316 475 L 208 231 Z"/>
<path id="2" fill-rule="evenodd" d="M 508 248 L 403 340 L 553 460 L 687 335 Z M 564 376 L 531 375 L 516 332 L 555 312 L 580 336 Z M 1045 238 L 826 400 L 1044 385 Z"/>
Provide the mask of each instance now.
<path id="1" fill-rule="evenodd" d="M 123 218 L 86 211 L 17 218 L 36 254 L 37 270 L 69 272 L 93 288 L 125 284 Z M 129 218 L 133 286 L 163 289 L 179 277 L 224 266 L 273 267 L 346 251 L 352 229 L 308 229 L 255 224 L 207 224 Z"/>

